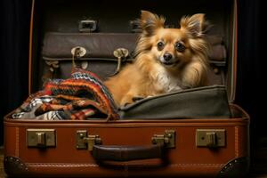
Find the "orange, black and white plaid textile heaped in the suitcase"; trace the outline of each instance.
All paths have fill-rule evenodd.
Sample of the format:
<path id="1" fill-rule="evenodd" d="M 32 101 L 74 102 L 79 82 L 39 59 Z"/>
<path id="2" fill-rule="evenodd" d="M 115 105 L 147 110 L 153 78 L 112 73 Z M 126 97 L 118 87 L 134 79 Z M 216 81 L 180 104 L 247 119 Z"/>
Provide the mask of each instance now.
<path id="1" fill-rule="evenodd" d="M 73 69 L 71 78 L 52 80 L 44 90 L 30 95 L 12 118 L 85 120 L 119 116 L 109 90 L 99 77 L 83 69 Z"/>

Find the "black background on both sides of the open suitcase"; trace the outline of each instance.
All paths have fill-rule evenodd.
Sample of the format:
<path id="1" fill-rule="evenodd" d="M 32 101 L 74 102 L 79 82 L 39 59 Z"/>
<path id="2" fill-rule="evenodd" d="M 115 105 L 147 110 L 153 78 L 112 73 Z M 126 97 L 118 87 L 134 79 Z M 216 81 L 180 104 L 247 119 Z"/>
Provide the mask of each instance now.
<path id="1" fill-rule="evenodd" d="M 30 0 L 0 1 L 0 145 L 3 144 L 3 117 L 28 97 L 28 39 Z M 267 160 L 267 127 L 263 69 L 263 2 L 239 0 L 239 55 L 236 102 L 251 116 L 252 165 Z M 263 57 L 262 57 L 263 56 Z M 266 152 L 267 153 L 267 152 Z"/>

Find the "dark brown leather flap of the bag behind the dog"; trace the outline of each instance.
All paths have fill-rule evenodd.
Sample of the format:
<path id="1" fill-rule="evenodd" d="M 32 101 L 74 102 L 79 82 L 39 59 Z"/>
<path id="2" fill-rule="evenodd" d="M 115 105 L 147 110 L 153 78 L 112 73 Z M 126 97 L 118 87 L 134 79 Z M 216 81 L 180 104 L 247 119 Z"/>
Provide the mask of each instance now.
<path id="1" fill-rule="evenodd" d="M 70 50 L 76 46 L 85 48 L 86 53 L 81 60 L 99 58 L 117 59 L 114 50 L 125 48 L 129 51 L 128 58 L 133 58 L 134 49 L 138 40 L 138 34 L 133 33 L 59 33 L 48 32 L 44 36 L 42 56 L 47 61 L 70 61 Z M 221 36 L 207 36 L 206 40 L 211 44 L 209 59 L 213 61 L 225 61 L 227 54 Z"/>

